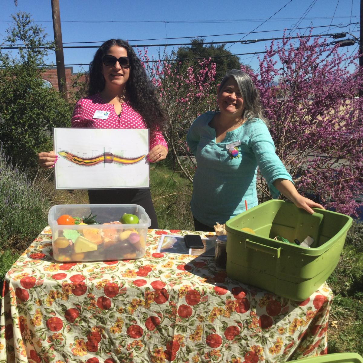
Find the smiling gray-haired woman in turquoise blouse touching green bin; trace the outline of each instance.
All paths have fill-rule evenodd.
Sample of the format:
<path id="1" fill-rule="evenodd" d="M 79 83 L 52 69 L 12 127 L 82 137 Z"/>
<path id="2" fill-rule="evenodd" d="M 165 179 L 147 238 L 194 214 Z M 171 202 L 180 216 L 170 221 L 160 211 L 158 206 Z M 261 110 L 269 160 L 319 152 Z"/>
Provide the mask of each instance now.
<path id="1" fill-rule="evenodd" d="M 244 72 L 227 72 L 218 89 L 219 112 L 195 119 L 187 143 L 195 155 L 191 209 L 196 231 L 214 231 L 258 204 L 257 167 L 274 198 L 285 195 L 299 208 L 313 213 L 320 204 L 300 195 L 275 153 L 258 92 Z"/>

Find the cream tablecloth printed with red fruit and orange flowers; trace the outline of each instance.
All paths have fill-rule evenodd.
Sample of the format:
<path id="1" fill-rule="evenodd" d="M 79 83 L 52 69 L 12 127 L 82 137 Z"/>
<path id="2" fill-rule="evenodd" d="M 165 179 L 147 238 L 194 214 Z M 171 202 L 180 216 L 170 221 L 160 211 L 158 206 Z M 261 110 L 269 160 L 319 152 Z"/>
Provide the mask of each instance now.
<path id="1" fill-rule="evenodd" d="M 285 362 L 326 354 L 333 299 L 292 301 L 227 277 L 213 257 L 58 263 L 46 228 L 6 275 L 0 362 Z"/>

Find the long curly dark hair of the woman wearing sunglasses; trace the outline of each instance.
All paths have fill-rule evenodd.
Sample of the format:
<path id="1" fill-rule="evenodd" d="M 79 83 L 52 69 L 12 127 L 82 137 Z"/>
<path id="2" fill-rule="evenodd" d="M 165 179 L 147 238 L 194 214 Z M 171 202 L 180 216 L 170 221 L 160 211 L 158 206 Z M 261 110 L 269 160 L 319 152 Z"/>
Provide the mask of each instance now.
<path id="1" fill-rule="evenodd" d="M 152 131 L 163 131 L 167 116 L 160 106 L 156 89 L 147 77 L 146 70 L 142 66 L 140 59 L 136 56 L 130 44 L 124 40 L 109 39 L 97 49 L 93 61 L 90 63 L 87 77 L 87 94 L 91 96 L 105 88 L 105 78 L 103 78 L 101 72 L 103 67 L 102 58 L 114 45 L 125 48 L 127 57 L 130 60 L 130 76 L 125 89 L 131 107 L 142 116 L 147 127 Z"/>

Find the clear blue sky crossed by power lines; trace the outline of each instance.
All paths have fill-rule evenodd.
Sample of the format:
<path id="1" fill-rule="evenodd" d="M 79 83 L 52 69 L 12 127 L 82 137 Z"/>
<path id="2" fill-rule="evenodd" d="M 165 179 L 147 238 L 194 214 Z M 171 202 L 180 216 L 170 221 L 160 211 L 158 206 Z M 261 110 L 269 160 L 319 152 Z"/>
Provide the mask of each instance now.
<path id="1" fill-rule="evenodd" d="M 109 0 L 101 3 L 95 0 L 59 0 L 63 43 L 102 42 L 110 38 L 122 38 L 129 40 L 131 45 L 136 44 L 141 48 L 144 44 L 188 43 L 189 38 L 197 36 L 204 36 L 206 41 L 221 42 L 281 37 L 283 31 L 280 29 L 303 28 L 311 25 L 315 27 L 313 34 L 345 31 L 359 37 L 359 24 L 345 26 L 349 23 L 359 23 L 359 1 Z M 11 14 L 19 11 L 30 13 L 36 24 L 45 28 L 49 40 L 53 39 L 50 0 L 18 0 L 17 6 L 13 0 L 2 0 L 1 7 L 3 9 L 0 15 L 1 43 L 6 29 L 11 24 Z M 318 28 L 325 25 L 327 27 Z M 255 28 L 257 29 L 254 30 Z M 253 30 L 264 32 L 237 34 Z M 292 35 L 295 36 L 297 32 L 306 34 L 308 30 L 296 29 L 292 31 Z M 175 37 L 183 38 L 170 39 Z M 153 40 L 142 41 L 151 38 Z M 156 40 L 156 38 L 163 39 Z M 101 42 L 89 45 L 101 45 Z M 262 52 L 265 50 L 265 45 L 269 44 L 270 41 L 253 44 L 236 42 L 227 44 L 226 48 L 229 47 L 233 54 Z M 168 46 L 166 51 L 170 53 L 172 49 L 177 48 L 177 46 Z M 347 49 L 353 52 L 356 46 L 344 47 L 341 51 L 345 52 Z M 95 48 L 64 49 L 65 64 L 89 64 L 95 50 Z M 148 54 L 157 56 L 158 50 L 163 52 L 164 48 L 149 47 Z M 257 56 L 242 55 L 240 60 L 250 64 L 254 69 L 258 66 Z M 54 61 L 55 56 L 52 53 L 48 62 L 50 64 Z M 88 70 L 88 66 L 73 66 L 73 69 L 74 72 Z"/>

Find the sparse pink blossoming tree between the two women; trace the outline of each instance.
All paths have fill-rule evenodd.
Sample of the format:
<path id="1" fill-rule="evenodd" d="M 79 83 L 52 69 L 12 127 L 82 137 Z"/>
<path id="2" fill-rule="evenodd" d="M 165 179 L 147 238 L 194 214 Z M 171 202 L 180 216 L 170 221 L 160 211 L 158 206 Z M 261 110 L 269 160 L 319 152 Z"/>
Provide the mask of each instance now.
<path id="1" fill-rule="evenodd" d="M 167 112 L 166 140 L 173 166 L 193 180 L 195 159 L 189 152 L 186 135 L 192 122 L 207 110 L 216 108 L 216 65 L 203 59 L 189 65 L 163 55 L 163 60 L 151 60 L 147 49 L 139 56 L 158 89 L 160 102 Z"/>

